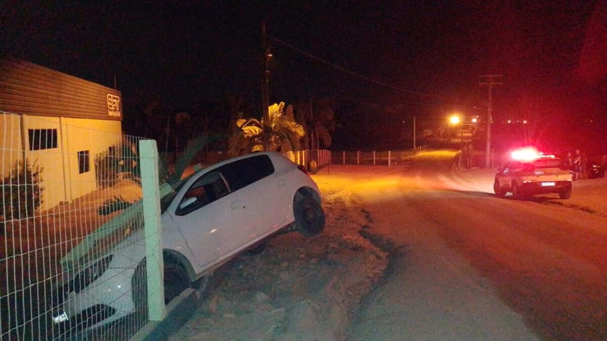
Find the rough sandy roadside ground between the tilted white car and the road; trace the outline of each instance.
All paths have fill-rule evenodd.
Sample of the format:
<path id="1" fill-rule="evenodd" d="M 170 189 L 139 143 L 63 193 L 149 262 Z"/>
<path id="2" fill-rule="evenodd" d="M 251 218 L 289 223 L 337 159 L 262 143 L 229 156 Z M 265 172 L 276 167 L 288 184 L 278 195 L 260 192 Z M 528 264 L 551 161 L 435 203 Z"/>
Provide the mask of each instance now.
<path id="1" fill-rule="evenodd" d="M 171 340 L 345 340 L 350 317 L 381 278 L 387 252 L 361 236 L 368 212 L 318 177 L 325 231 L 273 238 L 215 274 L 200 307 Z M 219 277 L 219 280 L 217 279 Z"/>

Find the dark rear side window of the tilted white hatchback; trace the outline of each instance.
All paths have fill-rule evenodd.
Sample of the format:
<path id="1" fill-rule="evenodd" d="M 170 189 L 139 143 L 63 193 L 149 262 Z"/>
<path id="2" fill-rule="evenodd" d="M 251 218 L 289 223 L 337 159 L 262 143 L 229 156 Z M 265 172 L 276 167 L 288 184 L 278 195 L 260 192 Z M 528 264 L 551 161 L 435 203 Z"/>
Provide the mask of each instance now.
<path id="1" fill-rule="evenodd" d="M 274 173 L 274 164 L 268 155 L 257 155 L 224 164 L 218 169 L 228 181 L 231 192 L 236 192 Z"/>

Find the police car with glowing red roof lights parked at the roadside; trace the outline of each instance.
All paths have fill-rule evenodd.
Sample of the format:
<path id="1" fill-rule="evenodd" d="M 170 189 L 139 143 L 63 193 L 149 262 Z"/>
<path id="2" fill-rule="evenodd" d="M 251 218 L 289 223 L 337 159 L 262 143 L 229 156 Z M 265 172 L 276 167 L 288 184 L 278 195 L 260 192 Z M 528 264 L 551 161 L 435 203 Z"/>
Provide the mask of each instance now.
<path id="1" fill-rule="evenodd" d="M 569 199 L 572 175 L 561 165 L 562 161 L 553 155 L 543 155 L 531 148 L 516 150 L 512 160 L 495 174 L 493 191 L 500 197 L 511 192 L 517 200 L 548 193 L 558 193 L 561 199 Z"/>

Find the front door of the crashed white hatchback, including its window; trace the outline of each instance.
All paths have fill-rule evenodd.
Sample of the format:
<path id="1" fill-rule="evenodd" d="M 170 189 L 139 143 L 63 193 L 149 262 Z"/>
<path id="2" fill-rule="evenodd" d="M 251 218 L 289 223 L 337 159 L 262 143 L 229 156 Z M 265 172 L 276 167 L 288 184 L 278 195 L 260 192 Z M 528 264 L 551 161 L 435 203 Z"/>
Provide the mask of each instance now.
<path id="1" fill-rule="evenodd" d="M 201 175 L 182 191 L 173 220 L 200 266 L 257 236 L 246 201 L 238 192 L 229 190 L 219 171 Z"/>

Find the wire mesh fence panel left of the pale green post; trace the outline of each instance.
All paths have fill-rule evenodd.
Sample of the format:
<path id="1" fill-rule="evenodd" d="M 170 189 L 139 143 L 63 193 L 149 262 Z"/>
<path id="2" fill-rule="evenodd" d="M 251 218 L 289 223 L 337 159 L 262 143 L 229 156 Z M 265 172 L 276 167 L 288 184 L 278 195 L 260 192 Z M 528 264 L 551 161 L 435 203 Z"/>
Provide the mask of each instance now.
<path id="1" fill-rule="evenodd" d="M 2 111 L 0 129 L 0 340 L 128 339 L 148 320 L 142 139 Z"/>

